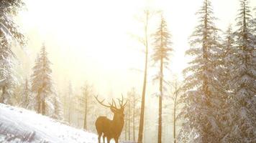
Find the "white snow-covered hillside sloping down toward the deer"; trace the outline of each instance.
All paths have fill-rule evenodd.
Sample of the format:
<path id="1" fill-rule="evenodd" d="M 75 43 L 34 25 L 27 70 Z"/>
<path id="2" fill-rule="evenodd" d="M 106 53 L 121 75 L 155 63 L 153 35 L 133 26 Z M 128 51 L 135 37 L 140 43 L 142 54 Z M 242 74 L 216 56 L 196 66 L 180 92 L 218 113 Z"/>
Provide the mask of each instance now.
<path id="1" fill-rule="evenodd" d="M 17 107 L 0 104 L 0 142 L 96 143 L 96 134 Z"/>

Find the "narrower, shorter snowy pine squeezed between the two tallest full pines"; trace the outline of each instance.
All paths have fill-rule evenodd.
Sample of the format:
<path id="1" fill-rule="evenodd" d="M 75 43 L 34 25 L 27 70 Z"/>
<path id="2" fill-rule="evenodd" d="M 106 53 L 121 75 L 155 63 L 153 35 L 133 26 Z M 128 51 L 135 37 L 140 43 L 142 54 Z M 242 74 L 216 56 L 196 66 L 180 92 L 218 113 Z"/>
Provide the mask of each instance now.
<path id="1" fill-rule="evenodd" d="M 224 41 L 221 49 L 221 62 L 219 66 L 219 81 L 226 91 L 226 94 L 221 96 L 221 104 L 219 107 L 219 129 L 221 129 L 221 142 L 227 142 L 226 137 L 229 134 L 231 127 L 234 125 L 233 116 L 234 111 L 232 99 L 234 97 L 234 88 L 232 87 L 232 66 L 234 65 L 234 32 L 232 26 L 229 25 L 227 31 L 224 33 Z"/>

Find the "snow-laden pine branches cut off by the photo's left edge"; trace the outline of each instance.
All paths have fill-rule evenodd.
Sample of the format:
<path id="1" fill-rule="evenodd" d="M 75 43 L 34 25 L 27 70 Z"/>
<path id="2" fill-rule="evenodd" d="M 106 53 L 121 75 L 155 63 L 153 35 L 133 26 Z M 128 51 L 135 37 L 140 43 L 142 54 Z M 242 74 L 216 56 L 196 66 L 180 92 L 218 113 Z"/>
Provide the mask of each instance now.
<path id="1" fill-rule="evenodd" d="M 18 26 L 14 24 L 13 16 L 17 15 L 23 5 L 21 0 L 0 1 L 0 80 L 4 80 L 0 86 L 0 103 L 11 102 L 13 89 L 17 84 L 12 44 L 15 42 L 19 46 L 24 46 L 25 40 Z"/>

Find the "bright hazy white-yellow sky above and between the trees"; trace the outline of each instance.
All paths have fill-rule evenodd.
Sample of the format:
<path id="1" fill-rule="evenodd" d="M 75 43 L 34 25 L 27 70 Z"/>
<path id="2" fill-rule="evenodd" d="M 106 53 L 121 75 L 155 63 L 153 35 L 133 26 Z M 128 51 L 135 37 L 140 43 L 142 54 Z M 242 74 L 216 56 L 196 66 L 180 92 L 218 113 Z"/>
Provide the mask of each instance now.
<path id="1" fill-rule="evenodd" d="M 76 89 L 87 80 L 100 94 L 119 95 L 131 87 L 138 87 L 141 92 L 142 72 L 131 70 L 144 66 L 143 46 L 130 36 L 143 32 L 135 16 L 142 14 L 145 7 L 163 10 L 175 49 L 170 69 L 181 75 L 186 66 L 188 36 L 196 26 L 195 13 L 202 1 L 25 0 L 27 11 L 22 12 L 19 21 L 29 38 L 29 56 L 22 56 L 22 64 L 31 69 L 45 42 L 59 90 L 69 80 Z M 225 30 L 235 24 L 239 0 L 212 0 L 212 4 L 219 28 Z M 251 6 L 256 6 L 255 0 Z M 158 23 L 158 19 L 152 19 L 151 28 L 155 29 Z M 155 70 L 149 74 L 151 82 Z"/>

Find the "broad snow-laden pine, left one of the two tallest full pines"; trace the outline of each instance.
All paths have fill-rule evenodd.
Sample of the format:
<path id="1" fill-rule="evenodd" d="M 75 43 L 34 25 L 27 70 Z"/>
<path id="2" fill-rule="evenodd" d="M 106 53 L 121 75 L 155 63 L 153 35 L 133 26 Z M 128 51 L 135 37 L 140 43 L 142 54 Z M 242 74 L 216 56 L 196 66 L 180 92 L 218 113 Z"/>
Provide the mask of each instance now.
<path id="1" fill-rule="evenodd" d="M 224 90 L 219 79 L 221 54 L 219 29 L 215 26 L 211 1 L 204 0 L 197 12 L 199 24 L 191 35 L 191 48 L 186 54 L 193 60 L 184 69 L 186 74 L 183 90 L 184 123 L 178 135 L 178 142 L 220 142 L 221 94 Z"/>

